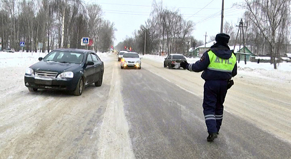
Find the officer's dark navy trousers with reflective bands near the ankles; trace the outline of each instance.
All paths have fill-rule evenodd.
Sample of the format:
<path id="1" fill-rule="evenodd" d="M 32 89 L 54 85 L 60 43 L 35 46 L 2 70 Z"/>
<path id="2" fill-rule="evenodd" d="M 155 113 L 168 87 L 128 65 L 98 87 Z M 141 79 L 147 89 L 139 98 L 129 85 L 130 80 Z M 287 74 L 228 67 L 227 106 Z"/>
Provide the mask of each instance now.
<path id="1" fill-rule="evenodd" d="M 223 103 L 227 93 L 226 80 L 206 80 L 204 84 L 203 113 L 208 133 L 218 132 L 223 117 Z"/>

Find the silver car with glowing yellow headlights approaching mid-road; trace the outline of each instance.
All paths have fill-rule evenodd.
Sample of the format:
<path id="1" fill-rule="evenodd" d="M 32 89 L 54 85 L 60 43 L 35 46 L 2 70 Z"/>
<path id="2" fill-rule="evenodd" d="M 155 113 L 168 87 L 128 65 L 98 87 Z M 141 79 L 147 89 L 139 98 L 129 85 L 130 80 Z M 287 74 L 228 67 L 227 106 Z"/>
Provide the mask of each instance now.
<path id="1" fill-rule="evenodd" d="M 123 54 L 121 59 L 120 68 L 123 69 L 124 67 L 135 67 L 138 69 L 142 68 L 142 61 L 141 58 L 138 56 L 136 52 L 128 52 Z"/>

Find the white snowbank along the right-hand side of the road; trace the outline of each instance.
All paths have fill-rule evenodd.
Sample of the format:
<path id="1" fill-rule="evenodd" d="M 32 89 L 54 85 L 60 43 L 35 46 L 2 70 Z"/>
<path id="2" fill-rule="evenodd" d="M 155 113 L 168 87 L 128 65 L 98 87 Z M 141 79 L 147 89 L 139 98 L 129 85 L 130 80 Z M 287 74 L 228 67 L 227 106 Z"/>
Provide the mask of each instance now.
<path id="1" fill-rule="evenodd" d="M 144 55 L 142 57 L 163 63 L 164 58 L 167 56 Z M 200 60 L 200 58 L 187 58 L 188 63 L 195 63 L 198 60 Z M 279 80 L 291 83 L 291 63 L 279 63 L 277 70 L 274 70 L 273 64 L 270 63 L 256 63 L 247 61 L 247 64 L 245 65 L 244 61 L 240 61 L 240 63 L 237 64 L 239 76 L 248 75 L 268 80 Z"/>

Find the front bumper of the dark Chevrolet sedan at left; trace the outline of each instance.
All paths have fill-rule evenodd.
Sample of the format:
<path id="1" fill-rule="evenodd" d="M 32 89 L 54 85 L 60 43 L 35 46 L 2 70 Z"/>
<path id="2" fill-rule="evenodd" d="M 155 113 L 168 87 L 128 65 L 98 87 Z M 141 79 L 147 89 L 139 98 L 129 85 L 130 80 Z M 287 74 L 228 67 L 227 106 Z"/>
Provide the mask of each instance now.
<path id="1" fill-rule="evenodd" d="M 24 83 L 26 87 L 36 89 L 55 89 L 73 91 L 76 89 L 78 79 L 64 78 L 64 79 L 43 79 L 34 78 L 32 76 L 24 76 Z"/>

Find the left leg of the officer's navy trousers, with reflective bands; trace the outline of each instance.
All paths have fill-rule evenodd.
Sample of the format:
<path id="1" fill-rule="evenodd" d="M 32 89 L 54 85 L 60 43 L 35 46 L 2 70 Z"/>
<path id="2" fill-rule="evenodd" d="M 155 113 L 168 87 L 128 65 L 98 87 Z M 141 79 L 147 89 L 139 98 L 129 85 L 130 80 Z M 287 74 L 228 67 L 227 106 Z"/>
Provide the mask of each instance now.
<path id="1" fill-rule="evenodd" d="M 203 96 L 203 113 L 208 133 L 217 132 L 215 120 L 216 92 L 211 81 L 205 81 Z"/>

